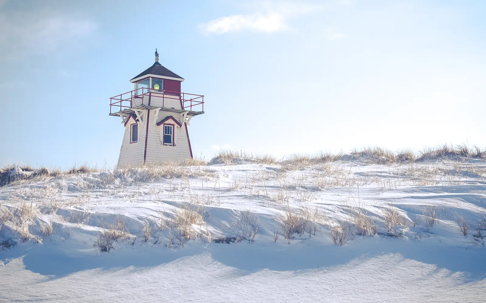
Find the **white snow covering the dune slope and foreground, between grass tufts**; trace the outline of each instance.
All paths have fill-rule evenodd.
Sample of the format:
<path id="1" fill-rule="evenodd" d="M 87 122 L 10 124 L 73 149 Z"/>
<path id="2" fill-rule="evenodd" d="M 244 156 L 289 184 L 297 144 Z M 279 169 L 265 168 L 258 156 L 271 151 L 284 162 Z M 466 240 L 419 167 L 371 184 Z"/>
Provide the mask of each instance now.
<path id="1" fill-rule="evenodd" d="M 121 177 L 106 171 L 0 188 L 3 209 L 26 202 L 41 209 L 30 229 L 39 243 L 21 242 L 10 223 L 0 230 L 0 242 L 18 242 L 0 250 L 0 302 L 486 300 L 485 244 L 475 236 L 486 215 L 485 163 L 183 169 L 192 173 L 140 182 L 134 180 L 143 179 L 143 171 Z M 155 229 L 143 240 L 144 221 L 155 226 L 189 203 L 204 211 L 204 222 L 193 226 L 197 238 L 181 243 L 172 234 L 169 245 L 169 230 Z M 288 243 L 278 216 L 302 206 L 318 207 L 330 223 L 318 222 L 315 235 L 296 234 Z M 389 232 L 383 211 L 390 206 L 407 224 Z M 427 207 L 437 210 L 432 227 L 424 226 Z M 352 226 L 356 209 L 377 221 L 378 234 L 333 244 L 329 226 L 340 221 Z M 208 241 L 208 231 L 211 239 L 241 237 L 235 222 L 245 211 L 261 224 L 254 241 Z M 469 223 L 467 237 L 457 215 Z M 131 238 L 101 252 L 94 245 L 100 231 L 120 218 Z M 41 236 L 41 222 L 49 221 L 59 225 L 52 236 Z"/>

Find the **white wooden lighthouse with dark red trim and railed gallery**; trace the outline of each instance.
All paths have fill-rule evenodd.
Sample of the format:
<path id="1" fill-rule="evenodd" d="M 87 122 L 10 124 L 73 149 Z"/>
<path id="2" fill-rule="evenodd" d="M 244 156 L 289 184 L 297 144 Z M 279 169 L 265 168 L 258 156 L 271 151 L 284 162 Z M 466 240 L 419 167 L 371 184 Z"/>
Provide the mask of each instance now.
<path id="1" fill-rule="evenodd" d="M 158 62 L 134 77 L 134 90 L 110 98 L 125 128 L 117 166 L 192 158 L 187 127 L 204 113 L 204 96 L 181 92 L 184 79 Z"/>

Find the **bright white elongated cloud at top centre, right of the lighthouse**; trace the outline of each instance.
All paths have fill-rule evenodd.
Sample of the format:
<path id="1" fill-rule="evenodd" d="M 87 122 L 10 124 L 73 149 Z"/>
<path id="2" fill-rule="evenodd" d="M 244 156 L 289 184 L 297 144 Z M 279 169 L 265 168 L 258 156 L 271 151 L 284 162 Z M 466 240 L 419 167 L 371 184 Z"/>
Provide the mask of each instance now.
<path id="1" fill-rule="evenodd" d="M 222 34 L 226 32 L 282 32 L 290 27 L 287 20 L 296 15 L 315 11 L 316 7 L 301 3 L 260 2 L 256 11 L 248 15 L 224 16 L 206 23 L 198 28 L 205 34 Z"/>

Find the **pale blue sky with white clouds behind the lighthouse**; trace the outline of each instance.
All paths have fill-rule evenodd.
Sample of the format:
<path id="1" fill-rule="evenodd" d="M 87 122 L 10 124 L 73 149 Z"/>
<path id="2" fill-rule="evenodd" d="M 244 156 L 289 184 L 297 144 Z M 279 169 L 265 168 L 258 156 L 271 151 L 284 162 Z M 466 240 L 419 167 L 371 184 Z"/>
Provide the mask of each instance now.
<path id="1" fill-rule="evenodd" d="M 113 166 L 109 98 L 160 63 L 195 156 L 486 146 L 485 1 L 0 0 L 0 167 Z"/>

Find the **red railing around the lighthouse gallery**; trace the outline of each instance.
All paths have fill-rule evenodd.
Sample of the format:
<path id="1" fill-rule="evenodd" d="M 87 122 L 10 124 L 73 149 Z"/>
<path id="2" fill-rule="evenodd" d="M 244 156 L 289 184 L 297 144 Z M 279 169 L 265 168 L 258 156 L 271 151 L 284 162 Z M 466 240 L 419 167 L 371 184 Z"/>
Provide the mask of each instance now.
<path id="1" fill-rule="evenodd" d="M 110 113 L 119 112 L 130 109 L 134 105 L 149 105 L 149 97 L 162 98 L 162 107 L 164 107 L 165 99 L 179 99 L 183 110 L 194 111 L 200 109 L 198 112 L 204 112 L 204 96 L 188 93 L 180 93 L 166 90 L 155 90 L 150 88 L 139 88 L 130 92 L 120 94 L 110 98 Z M 139 100 L 140 99 L 140 100 Z M 140 103 L 136 102 L 137 100 Z"/>

